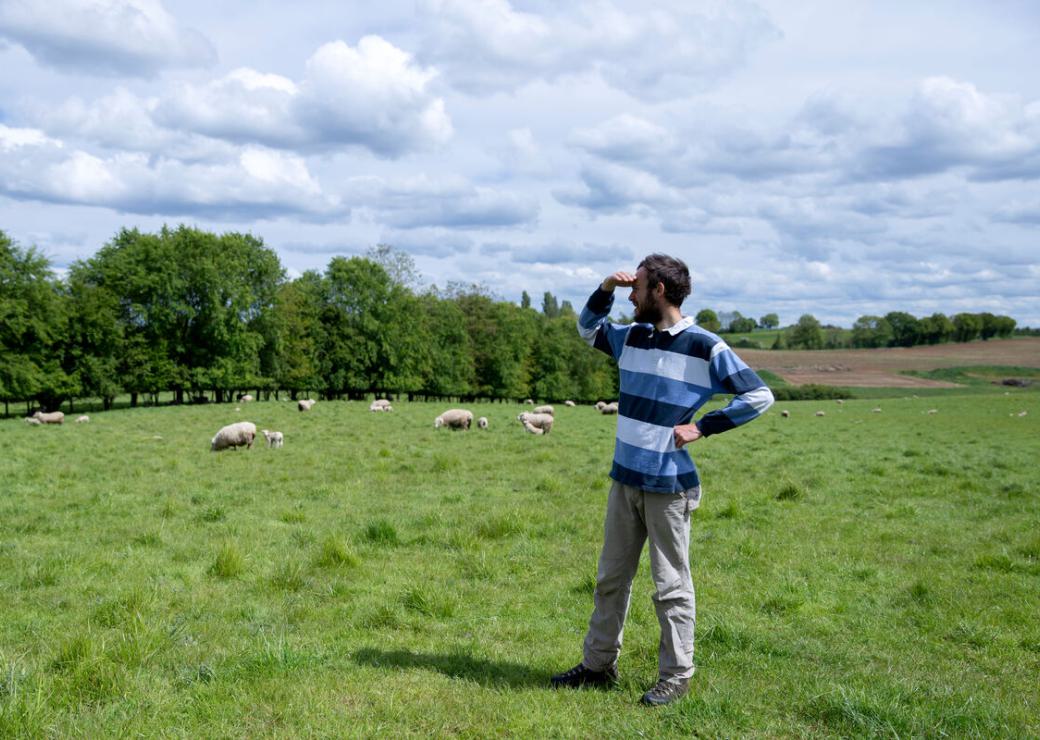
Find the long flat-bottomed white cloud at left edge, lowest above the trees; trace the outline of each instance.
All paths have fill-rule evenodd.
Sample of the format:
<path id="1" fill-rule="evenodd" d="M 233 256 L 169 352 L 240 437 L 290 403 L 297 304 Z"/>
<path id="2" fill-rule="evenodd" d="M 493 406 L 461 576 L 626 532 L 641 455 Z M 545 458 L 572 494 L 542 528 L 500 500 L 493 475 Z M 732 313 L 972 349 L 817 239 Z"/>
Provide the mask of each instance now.
<path id="1" fill-rule="evenodd" d="M 274 218 L 342 216 L 300 157 L 245 148 L 235 158 L 190 164 L 142 154 L 99 157 L 42 132 L 0 126 L 0 193 L 129 213 Z"/>

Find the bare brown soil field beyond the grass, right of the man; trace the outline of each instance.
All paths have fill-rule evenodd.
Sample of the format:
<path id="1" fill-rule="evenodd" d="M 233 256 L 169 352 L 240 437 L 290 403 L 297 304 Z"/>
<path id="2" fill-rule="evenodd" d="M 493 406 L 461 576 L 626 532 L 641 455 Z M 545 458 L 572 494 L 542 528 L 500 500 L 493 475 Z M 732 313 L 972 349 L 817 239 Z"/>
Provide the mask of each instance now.
<path id="1" fill-rule="evenodd" d="M 883 349 L 737 349 L 756 370 L 769 370 L 795 386 L 873 388 L 957 388 L 956 384 L 901 375 L 903 370 L 935 370 L 971 365 L 1040 368 L 1040 338 L 998 339 L 964 344 Z"/>

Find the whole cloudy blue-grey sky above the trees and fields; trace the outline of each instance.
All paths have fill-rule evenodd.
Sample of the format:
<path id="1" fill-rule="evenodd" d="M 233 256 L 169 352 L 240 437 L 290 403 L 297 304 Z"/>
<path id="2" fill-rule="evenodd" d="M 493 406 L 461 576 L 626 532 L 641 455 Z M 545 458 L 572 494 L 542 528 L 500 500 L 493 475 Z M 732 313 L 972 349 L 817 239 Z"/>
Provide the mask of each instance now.
<path id="1" fill-rule="evenodd" d="M 0 230 L 249 232 L 290 276 L 1040 326 L 1031 0 L 0 0 Z"/>

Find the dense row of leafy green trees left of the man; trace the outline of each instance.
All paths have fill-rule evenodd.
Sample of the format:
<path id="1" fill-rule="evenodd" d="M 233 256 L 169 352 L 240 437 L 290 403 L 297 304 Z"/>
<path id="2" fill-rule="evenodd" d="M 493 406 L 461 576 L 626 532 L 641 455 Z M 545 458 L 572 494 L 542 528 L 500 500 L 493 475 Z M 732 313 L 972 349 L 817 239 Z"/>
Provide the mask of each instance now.
<path id="1" fill-rule="evenodd" d="M 289 280 L 262 239 L 184 226 L 123 230 L 58 278 L 0 231 L 0 399 L 7 414 L 123 394 L 617 395 L 617 368 L 577 336 L 567 301 L 546 293 L 540 313 L 479 285 L 418 283 L 385 245 Z"/>

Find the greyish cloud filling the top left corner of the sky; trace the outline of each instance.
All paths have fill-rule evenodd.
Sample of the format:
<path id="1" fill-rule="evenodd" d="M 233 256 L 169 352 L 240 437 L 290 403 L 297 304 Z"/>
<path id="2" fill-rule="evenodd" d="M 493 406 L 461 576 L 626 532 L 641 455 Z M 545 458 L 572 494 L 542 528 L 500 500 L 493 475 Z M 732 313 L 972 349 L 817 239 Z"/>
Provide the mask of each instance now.
<path id="1" fill-rule="evenodd" d="M 69 72 L 149 77 L 165 67 L 207 67 L 209 41 L 158 0 L 3 0 L 0 37 Z"/>

